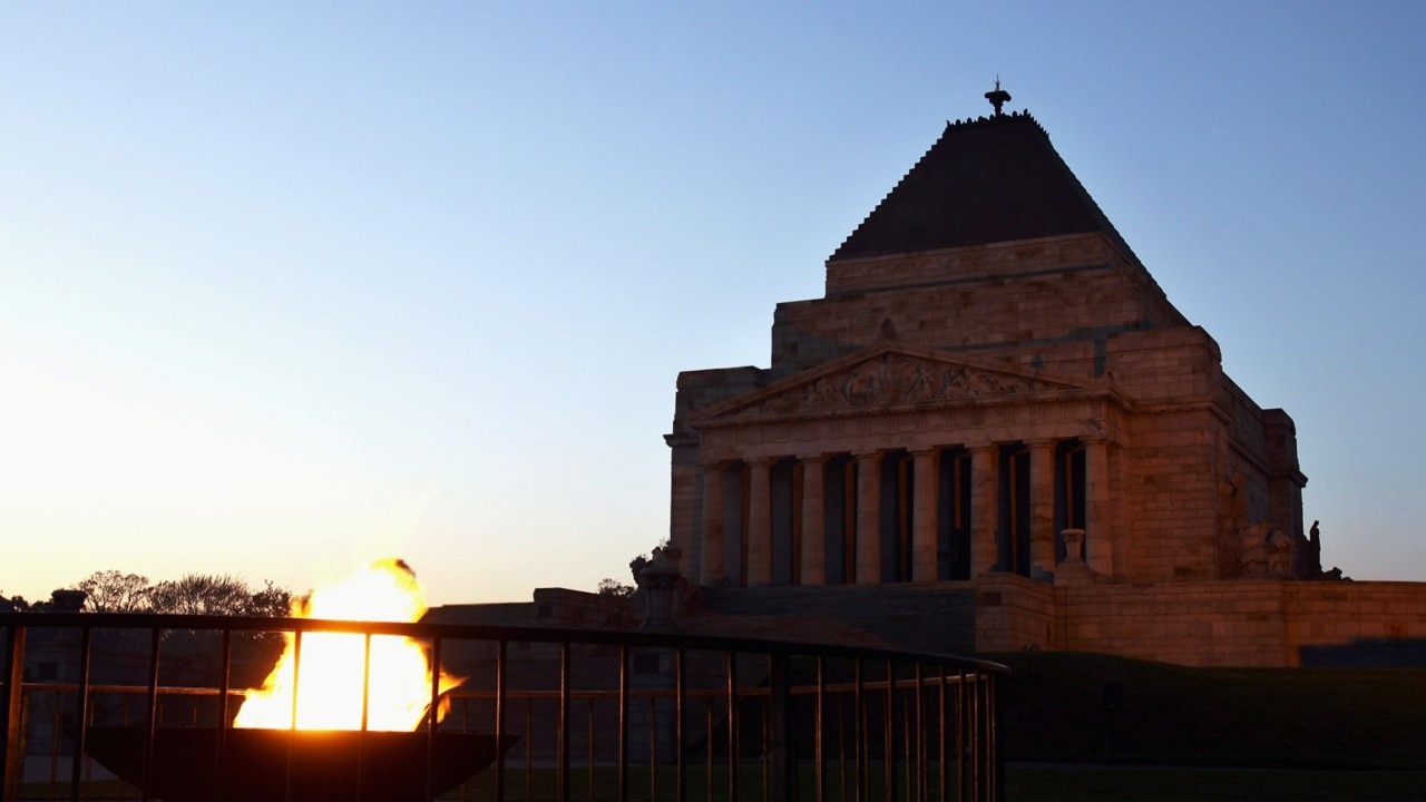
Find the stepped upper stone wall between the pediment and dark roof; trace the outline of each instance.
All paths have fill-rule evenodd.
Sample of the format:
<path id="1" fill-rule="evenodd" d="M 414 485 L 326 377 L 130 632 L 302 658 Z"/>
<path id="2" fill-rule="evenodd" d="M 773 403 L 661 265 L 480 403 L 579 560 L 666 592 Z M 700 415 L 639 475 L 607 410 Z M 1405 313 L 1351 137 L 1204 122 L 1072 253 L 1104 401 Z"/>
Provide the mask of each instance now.
<path id="1" fill-rule="evenodd" d="M 851 271 L 868 275 L 853 281 Z M 883 321 L 908 344 L 948 352 L 1020 348 L 1030 358 L 1061 342 L 1188 327 L 1144 268 L 1099 234 L 829 263 L 827 275 L 827 297 L 777 305 L 774 375 L 856 351 L 884 333 Z M 1067 375 L 1091 377 L 1102 364 L 1088 367 Z"/>

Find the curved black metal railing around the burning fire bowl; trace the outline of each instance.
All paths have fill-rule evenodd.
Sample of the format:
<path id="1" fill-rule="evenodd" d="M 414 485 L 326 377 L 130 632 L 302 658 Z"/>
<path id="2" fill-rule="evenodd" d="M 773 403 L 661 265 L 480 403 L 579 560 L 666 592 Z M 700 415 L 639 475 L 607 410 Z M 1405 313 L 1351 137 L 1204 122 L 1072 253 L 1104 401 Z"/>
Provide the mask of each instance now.
<path id="1" fill-rule="evenodd" d="M 1002 666 L 847 646 L 448 624 L 0 614 L 3 802 L 1000 801 Z M 412 734 L 232 728 L 314 632 L 463 678 Z M 304 682 L 308 682 L 304 679 Z M 301 694 L 301 689 L 298 689 Z M 354 704 L 365 705 L 365 699 Z"/>

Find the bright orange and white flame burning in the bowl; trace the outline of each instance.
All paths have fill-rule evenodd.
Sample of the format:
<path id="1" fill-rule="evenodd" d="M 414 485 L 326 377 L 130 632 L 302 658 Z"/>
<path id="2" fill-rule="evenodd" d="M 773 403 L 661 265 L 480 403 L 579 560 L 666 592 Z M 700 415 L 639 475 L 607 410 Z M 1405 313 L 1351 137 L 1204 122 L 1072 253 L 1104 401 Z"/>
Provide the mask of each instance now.
<path id="1" fill-rule="evenodd" d="M 342 582 L 319 588 L 292 604 L 297 618 L 338 621 L 416 621 L 426 612 L 425 592 L 411 568 L 382 559 Z M 291 729 L 295 634 L 262 688 L 244 694 L 232 726 Z M 297 729 L 361 729 L 366 638 L 355 634 L 302 635 L 297 676 Z M 414 731 L 431 706 L 431 665 L 411 638 L 372 635 L 366 728 Z M 441 672 L 441 694 L 461 684 Z M 436 711 L 436 719 L 443 711 Z"/>

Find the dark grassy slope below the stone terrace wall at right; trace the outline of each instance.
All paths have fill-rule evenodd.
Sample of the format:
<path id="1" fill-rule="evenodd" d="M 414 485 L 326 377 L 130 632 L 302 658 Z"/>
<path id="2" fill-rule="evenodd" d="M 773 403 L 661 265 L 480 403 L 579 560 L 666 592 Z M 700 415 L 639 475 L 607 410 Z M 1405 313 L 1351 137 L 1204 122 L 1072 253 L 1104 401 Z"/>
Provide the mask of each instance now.
<path id="1" fill-rule="evenodd" d="M 1010 761 L 1426 769 L 1426 669 L 1184 668 L 1078 652 L 980 656 L 1014 672 L 1004 719 Z M 1121 689 L 1117 712 L 1107 709 L 1107 685 Z"/>

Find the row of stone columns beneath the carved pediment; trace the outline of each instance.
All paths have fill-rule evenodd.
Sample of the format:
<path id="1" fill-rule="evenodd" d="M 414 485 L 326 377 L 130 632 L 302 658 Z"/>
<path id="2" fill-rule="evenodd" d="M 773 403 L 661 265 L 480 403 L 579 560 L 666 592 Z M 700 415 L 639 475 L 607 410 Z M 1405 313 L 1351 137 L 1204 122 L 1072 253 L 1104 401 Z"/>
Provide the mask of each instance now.
<path id="1" fill-rule="evenodd" d="M 1040 440 L 704 464 L 699 581 L 1048 578 L 1067 558 L 1109 572 L 1107 462 L 1104 441 Z M 1065 529 L 1087 532 L 1084 555 Z"/>

